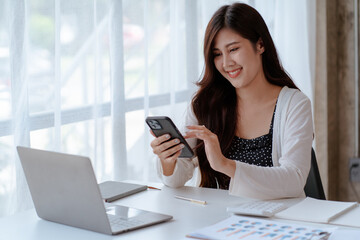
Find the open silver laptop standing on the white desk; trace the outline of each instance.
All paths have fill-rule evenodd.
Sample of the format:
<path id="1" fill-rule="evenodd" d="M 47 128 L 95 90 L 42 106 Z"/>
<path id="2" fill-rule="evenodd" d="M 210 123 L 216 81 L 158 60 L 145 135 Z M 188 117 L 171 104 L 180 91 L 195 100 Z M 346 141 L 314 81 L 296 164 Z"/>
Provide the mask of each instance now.
<path id="1" fill-rule="evenodd" d="M 88 157 L 20 146 L 17 151 L 42 219 L 110 235 L 172 219 L 126 206 L 106 208 Z"/>

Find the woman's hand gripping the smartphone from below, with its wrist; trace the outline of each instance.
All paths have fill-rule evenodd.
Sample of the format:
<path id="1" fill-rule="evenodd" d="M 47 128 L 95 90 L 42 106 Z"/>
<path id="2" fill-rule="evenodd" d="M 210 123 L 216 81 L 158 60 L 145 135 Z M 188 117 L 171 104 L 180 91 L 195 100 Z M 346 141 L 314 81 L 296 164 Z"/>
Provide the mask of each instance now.
<path id="1" fill-rule="evenodd" d="M 154 133 L 150 130 L 150 133 L 155 137 Z M 174 173 L 176 159 L 180 156 L 181 149 L 184 148 L 184 144 L 180 144 L 179 139 L 170 140 L 169 134 L 164 134 L 155 138 L 150 146 L 153 152 L 159 157 L 163 174 L 170 176 Z"/>

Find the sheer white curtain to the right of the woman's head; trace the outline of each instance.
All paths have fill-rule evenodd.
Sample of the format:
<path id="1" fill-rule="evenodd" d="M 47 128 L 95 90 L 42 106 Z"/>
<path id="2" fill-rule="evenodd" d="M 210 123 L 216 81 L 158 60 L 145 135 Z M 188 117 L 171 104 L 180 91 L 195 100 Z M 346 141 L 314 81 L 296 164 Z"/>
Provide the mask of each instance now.
<path id="1" fill-rule="evenodd" d="M 264 17 L 285 70 L 301 91 L 312 99 L 315 1 L 255 0 L 250 2 L 254 3 L 253 6 Z"/>

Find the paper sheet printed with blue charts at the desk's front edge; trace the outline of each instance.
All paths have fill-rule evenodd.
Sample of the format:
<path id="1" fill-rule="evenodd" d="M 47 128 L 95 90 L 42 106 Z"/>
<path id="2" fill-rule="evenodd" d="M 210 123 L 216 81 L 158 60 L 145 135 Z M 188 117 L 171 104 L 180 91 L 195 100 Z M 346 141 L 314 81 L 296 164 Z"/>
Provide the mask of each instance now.
<path id="1" fill-rule="evenodd" d="M 330 233 L 333 230 L 334 228 L 313 228 L 233 215 L 214 225 L 190 233 L 187 237 L 200 239 L 305 240 L 310 238 L 318 239 L 321 234 Z"/>

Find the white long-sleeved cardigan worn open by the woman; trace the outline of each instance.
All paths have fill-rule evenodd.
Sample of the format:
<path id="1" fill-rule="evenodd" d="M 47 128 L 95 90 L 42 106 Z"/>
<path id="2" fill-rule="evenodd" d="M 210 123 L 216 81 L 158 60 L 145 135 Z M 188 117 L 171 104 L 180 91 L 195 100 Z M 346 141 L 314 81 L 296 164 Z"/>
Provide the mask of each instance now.
<path id="1" fill-rule="evenodd" d="M 188 110 L 184 126 L 197 125 L 198 121 Z M 304 186 L 310 171 L 313 121 L 310 100 L 299 90 L 283 87 L 280 91 L 273 126 L 273 167 L 236 162 L 235 175 L 230 180 L 229 193 L 256 199 L 303 197 Z M 188 140 L 191 147 L 196 139 Z M 163 183 L 181 187 L 193 177 L 198 167 L 197 158 L 177 159 L 171 176 L 162 174 L 160 160 L 157 170 Z M 200 183 L 200 171 L 197 173 Z"/>

